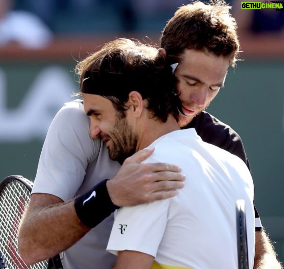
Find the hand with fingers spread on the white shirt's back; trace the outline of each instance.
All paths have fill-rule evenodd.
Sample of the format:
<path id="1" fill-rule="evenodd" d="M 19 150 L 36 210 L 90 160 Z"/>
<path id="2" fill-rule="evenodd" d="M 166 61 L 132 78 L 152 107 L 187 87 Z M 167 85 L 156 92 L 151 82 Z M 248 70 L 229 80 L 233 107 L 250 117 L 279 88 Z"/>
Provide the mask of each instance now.
<path id="1" fill-rule="evenodd" d="M 132 206 L 166 199 L 183 188 L 185 175 L 169 163 L 140 163 L 154 148 L 144 149 L 127 158 L 106 187 L 111 201 L 118 206 Z"/>

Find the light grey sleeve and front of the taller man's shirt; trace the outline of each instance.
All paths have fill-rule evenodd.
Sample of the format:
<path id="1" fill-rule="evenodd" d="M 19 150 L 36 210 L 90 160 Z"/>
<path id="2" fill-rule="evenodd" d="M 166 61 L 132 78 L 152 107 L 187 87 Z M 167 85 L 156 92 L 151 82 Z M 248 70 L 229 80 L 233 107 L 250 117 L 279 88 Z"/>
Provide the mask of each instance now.
<path id="1" fill-rule="evenodd" d="M 91 139 L 89 126 L 81 100 L 61 108 L 48 129 L 32 193 L 49 193 L 67 201 L 116 174 L 120 164 L 109 158 L 100 139 Z M 106 246 L 112 224 L 113 214 L 61 253 L 63 267 L 111 268 L 116 256 Z"/>

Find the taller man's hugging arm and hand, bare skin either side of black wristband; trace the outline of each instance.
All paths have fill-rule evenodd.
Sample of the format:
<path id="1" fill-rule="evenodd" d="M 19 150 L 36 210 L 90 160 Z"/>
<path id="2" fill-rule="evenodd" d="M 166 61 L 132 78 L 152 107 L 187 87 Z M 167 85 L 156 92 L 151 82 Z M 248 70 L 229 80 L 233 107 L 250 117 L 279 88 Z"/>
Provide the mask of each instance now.
<path id="1" fill-rule="evenodd" d="M 184 176 L 177 166 L 140 163 L 152 152 L 137 152 L 107 181 L 107 198 L 115 205 L 130 206 L 172 197 L 176 188 L 183 187 Z M 96 212 L 96 208 L 92 210 Z M 34 193 L 20 226 L 19 253 L 28 265 L 34 264 L 72 246 L 89 230 L 77 217 L 74 199 L 63 203 L 56 196 Z"/>

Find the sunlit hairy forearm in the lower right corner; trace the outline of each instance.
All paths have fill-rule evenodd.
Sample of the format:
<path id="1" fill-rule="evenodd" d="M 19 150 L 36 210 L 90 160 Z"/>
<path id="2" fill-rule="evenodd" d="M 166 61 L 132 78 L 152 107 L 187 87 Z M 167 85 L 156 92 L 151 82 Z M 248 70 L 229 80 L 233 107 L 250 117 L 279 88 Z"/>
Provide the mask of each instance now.
<path id="1" fill-rule="evenodd" d="M 264 230 L 255 232 L 254 269 L 281 269 L 272 243 Z"/>

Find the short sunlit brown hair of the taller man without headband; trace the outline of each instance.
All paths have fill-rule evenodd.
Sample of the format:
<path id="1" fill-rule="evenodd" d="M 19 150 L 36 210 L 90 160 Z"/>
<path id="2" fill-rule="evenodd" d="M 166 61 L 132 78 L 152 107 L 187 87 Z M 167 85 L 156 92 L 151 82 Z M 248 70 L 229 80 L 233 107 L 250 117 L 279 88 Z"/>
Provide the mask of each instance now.
<path id="1" fill-rule="evenodd" d="M 234 67 L 239 57 L 239 40 L 231 6 L 223 0 L 194 1 L 181 6 L 168 21 L 161 35 L 161 48 L 170 63 L 178 62 L 186 49 L 225 56 Z"/>

